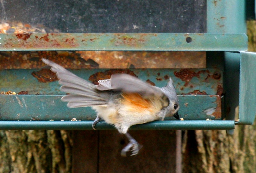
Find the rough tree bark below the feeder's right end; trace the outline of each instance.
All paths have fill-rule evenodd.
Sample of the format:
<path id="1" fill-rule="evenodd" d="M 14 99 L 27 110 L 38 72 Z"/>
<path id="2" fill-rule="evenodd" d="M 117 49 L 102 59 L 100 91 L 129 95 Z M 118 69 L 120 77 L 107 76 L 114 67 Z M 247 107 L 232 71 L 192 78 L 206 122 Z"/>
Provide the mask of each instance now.
<path id="1" fill-rule="evenodd" d="M 183 143 L 184 173 L 255 173 L 256 126 L 225 130 L 189 130 Z"/>

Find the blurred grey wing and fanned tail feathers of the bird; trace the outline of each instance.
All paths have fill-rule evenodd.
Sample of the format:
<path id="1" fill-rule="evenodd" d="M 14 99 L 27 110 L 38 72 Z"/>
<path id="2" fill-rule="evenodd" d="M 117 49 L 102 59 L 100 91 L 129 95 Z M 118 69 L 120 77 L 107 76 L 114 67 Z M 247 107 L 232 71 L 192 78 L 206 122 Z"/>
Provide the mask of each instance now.
<path id="1" fill-rule="evenodd" d="M 52 61 L 44 58 L 42 61 L 51 66 L 51 70 L 60 79 L 59 83 L 62 85 L 60 90 L 71 94 L 61 99 L 69 102 L 68 107 L 70 108 L 106 105 L 108 97 L 106 97 L 106 92 L 101 92 L 106 90 L 136 92 L 141 95 L 156 95 L 158 97 L 164 94 L 160 88 L 128 74 L 113 74 L 110 79 L 100 80 L 99 85 L 94 85 Z"/>

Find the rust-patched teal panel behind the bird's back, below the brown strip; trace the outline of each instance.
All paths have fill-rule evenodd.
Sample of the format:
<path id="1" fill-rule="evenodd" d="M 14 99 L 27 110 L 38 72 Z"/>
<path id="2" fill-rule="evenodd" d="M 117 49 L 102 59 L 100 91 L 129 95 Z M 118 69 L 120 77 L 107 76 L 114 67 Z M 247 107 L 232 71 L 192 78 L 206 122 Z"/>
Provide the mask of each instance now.
<path id="1" fill-rule="evenodd" d="M 46 69 L 49 71 L 49 69 Z M 44 73 L 38 80 L 38 76 L 32 74 L 41 71 L 41 69 L 10 69 L 0 70 L 0 88 L 1 91 L 27 91 L 28 94 L 65 94 L 60 92 L 55 75 Z M 70 70 L 76 75 L 96 83 L 98 80 L 110 78 L 113 73 L 129 73 L 138 76 L 143 81 L 150 81 L 153 85 L 163 87 L 172 77 L 174 86 L 178 94 L 222 94 L 222 72 L 218 69 L 77 69 Z M 215 79 L 214 74 L 220 73 L 220 78 Z M 177 76 L 177 73 L 181 74 Z M 175 75 L 176 74 L 176 75 Z M 196 74 L 186 78 L 184 76 Z M 55 78 L 55 79 L 54 79 Z M 54 80 L 53 80 L 54 79 Z M 189 79 L 189 81 L 188 81 Z M 46 82 L 49 80 L 48 82 Z M 42 83 L 44 81 L 45 83 Z M 50 82 L 54 81 L 54 82 Z"/>

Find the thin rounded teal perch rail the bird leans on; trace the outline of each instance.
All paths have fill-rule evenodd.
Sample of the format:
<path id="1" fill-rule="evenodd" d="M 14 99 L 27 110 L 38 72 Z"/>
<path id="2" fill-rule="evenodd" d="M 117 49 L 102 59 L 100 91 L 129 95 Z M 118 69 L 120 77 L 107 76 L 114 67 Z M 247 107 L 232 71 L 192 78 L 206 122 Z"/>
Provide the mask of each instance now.
<path id="1" fill-rule="evenodd" d="M 1 130 L 92 130 L 93 121 L 0 121 Z M 154 121 L 131 126 L 131 130 L 171 130 L 202 129 L 228 130 L 234 129 L 234 121 Z M 96 125 L 98 130 L 114 130 L 114 126 L 105 122 Z"/>

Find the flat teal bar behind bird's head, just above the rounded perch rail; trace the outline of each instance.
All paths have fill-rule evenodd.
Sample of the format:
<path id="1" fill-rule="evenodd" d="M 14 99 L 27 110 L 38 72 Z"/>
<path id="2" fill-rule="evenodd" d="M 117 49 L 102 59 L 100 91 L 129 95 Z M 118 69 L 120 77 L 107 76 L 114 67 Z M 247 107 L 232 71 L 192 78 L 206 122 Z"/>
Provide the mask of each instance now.
<path id="1" fill-rule="evenodd" d="M 0 95 L 0 120 L 93 120 L 91 107 L 68 108 L 62 96 L 55 95 Z M 216 95 L 179 95 L 180 118 L 184 120 L 221 119 L 220 97 Z M 175 118 L 169 118 L 174 120 Z"/>

